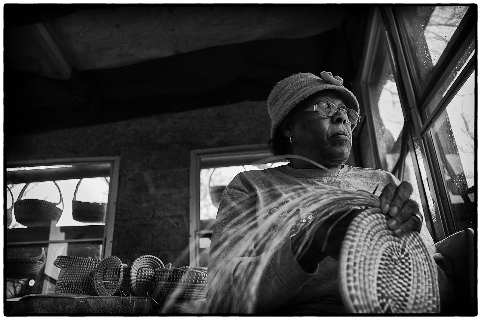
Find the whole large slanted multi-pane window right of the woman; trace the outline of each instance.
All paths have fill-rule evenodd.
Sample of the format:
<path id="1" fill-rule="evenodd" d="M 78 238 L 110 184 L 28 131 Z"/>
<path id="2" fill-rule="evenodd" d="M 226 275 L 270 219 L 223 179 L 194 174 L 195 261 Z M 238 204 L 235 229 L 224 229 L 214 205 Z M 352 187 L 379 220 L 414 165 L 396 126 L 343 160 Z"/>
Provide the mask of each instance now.
<path id="1" fill-rule="evenodd" d="M 475 10 L 374 8 L 361 70 L 376 166 L 417 185 L 435 241 L 476 228 Z"/>

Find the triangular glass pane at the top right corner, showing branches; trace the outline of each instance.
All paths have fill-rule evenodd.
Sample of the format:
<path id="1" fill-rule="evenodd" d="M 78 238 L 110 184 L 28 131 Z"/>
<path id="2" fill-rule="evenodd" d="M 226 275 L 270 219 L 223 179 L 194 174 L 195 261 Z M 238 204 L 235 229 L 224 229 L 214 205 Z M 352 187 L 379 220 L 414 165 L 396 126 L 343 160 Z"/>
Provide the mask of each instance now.
<path id="1" fill-rule="evenodd" d="M 453 46 L 467 6 L 396 7 L 420 97 Z"/>

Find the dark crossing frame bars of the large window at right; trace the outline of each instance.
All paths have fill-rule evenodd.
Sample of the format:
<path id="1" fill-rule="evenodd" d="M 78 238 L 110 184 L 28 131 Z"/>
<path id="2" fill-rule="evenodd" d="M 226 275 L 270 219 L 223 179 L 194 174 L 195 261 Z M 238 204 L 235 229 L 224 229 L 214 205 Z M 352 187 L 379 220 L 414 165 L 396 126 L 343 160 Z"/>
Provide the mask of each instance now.
<path id="1" fill-rule="evenodd" d="M 408 150 L 411 152 L 413 164 L 415 166 L 416 178 L 418 181 L 419 192 L 421 196 L 422 206 L 425 212 L 428 229 L 435 241 L 443 240 L 450 234 L 455 233 L 454 220 L 449 205 L 449 198 L 445 190 L 444 181 L 441 175 L 441 169 L 434 152 L 434 144 L 429 134 L 429 129 L 432 128 L 434 122 L 442 112 L 445 110 L 449 102 L 456 95 L 457 91 L 465 83 L 472 72 L 476 73 L 476 54 L 471 57 L 460 70 L 459 76 L 456 78 L 450 88 L 447 89 L 444 97 L 438 102 L 438 105 L 432 110 L 428 117 L 423 121 L 422 113 L 427 105 L 434 99 L 436 94 L 439 94 L 439 87 L 446 81 L 446 75 L 452 72 L 456 67 L 460 57 L 469 48 L 470 41 L 475 41 L 476 30 L 472 27 L 472 21 L 475 19 L 473 8 L 470 6 L 463 17 L 464 23 L 468 30 L 459 32 L 459 38 L 456 38 L 455 44 L 450 48 L 449 52 L 445 54 L 445 58 L 440 67 L 435 71 L 434 80 L 430 82 L 424 93 L 418 97 L 418 88 L 415 88 L 412 74 L 413 66 L 409 63 L 407 48 L 403 42 L 402 26 L 399 24 L 395 7 L 374 7 L 371 13 L 370 29 L 367 31 L 367 47 L 365 49 L 365 56 L 363 57 L 363 64 L 361 65 L 360 87 L 363 96 L 363 102 L 369 106 L 368 88 L 365 81 L 367 80 L 367 73 L 373 59 L 373 52 L 377 50 L 378 43 L 373 40 L 380 32 L 376 28 L 383 28 L 388 39 L 392 57 L 392 71 L 396 80 L 396 86 L 401 101 L 401 107 L 405 119 L 407 118 L 411 123 L 410 139 L 408 141 Z M 467 16 L 469 15 L 469 16 Z M 382 21 L 382 23 L 380 22 Z M 469 26 L 471 28 L 469 28 Z M 474 48 L 476 50 L 476 48 Z M 444 55 L 444 53 L 443 53 Z M 364 83 L 363 83 L 364 82 Z M 476 100 L 475 100 L 476 103 Z M 369 107 L 367 114 L 370 114 Z M 375 132 L 373 128 L 373 120 L 367 121 L 370 127 L 370 136 L 373 141 L 376 141 Z M 374 144 L 376 156 L 379 157 L 379 150 L 377 149 L 377 141 Z M 403 155 L 401 155 L 403 156 Z M 404 155 L 405 156 L 405 155 Z M 380 166 L 381 159 L 378 158 L 377 164 Z"/>

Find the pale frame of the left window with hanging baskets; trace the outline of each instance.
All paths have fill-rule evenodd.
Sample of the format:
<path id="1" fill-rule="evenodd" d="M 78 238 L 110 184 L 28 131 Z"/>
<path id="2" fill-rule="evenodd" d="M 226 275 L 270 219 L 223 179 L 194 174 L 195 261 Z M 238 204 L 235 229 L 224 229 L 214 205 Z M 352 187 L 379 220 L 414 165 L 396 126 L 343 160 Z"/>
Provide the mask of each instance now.
<path id="1" fill-rule="evenodd" d="M 118 178 L 120 169 L 120 156 L 107 156 L 107 157 L 82 157 L 82 158 L 59 158 L 59 159 L 42 159 L 42 160 L 20 160 L 20 161 L 7 161 L 6 167 L 14 166 L 52 166 L 52 165 L 64 165 L 64 164 L 76 164 L 76 163 L 96 163 L 96 162 L 110 162 L 112 166 L 110 168 L 110 186 L 109 196 L 107 199 L 107 214 L 105 215 L 105 227 L 103 230 L 103 238 L 86 238 L 86 239 L 67 239 L 62 241 L 46 240 L 46 241 L 26 241 L 26 242 L 11 242 L 4 243 L 4 246 L 11 245 L 29 245 L 29 244 L 42 244 L 42 243 L 91 243 L 98 242 L 103 246 L 101 257 L 112 255 L 112 245 L 114 243 L 114 224 L 115 224 L 115 207 L 117 202 L 118 192 Z"/>

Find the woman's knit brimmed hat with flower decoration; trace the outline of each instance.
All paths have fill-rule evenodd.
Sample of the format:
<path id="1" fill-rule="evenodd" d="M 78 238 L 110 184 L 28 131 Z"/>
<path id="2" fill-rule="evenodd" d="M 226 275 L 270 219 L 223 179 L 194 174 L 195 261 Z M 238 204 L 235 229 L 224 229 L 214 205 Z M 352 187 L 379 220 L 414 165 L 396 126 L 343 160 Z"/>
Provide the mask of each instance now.
<path id="1" fill-rule="evenodd" d="M 359 113 L 354 94 L 342 86 L 342 78 L 323 71 L 321 77 L 312 73 L 298 73 L 279 81 L 267 98 L 267 112 L 271 118 L 271 138 L 282 119 L 299 102 L 317 91 L 333 89 L 342 94 L 347 106 Z"/>

